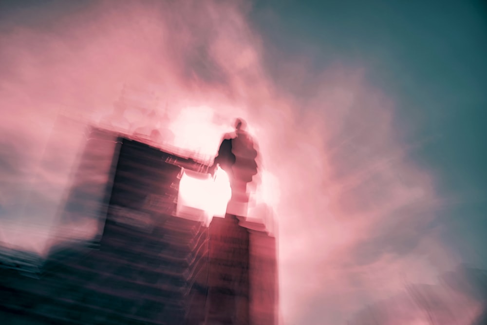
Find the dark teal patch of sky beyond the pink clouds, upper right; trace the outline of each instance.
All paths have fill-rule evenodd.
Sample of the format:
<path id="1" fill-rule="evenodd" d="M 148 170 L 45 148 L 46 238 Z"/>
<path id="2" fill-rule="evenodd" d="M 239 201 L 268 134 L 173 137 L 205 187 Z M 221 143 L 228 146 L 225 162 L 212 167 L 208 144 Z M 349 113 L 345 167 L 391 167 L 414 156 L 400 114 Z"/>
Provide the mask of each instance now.
<path id="1" fill-rule="evenodd" d="M 392 98 L 406 142 L 419 144 L 410 157 L 448 198 L 447 245 L 486 263 L 486 4 L 258 1 L 252 19 L 276 52 L 307 56 L 316 70 L 365 67 L 368 81 Z M 278 78 L 280 67 L 267 59 Z"/>

